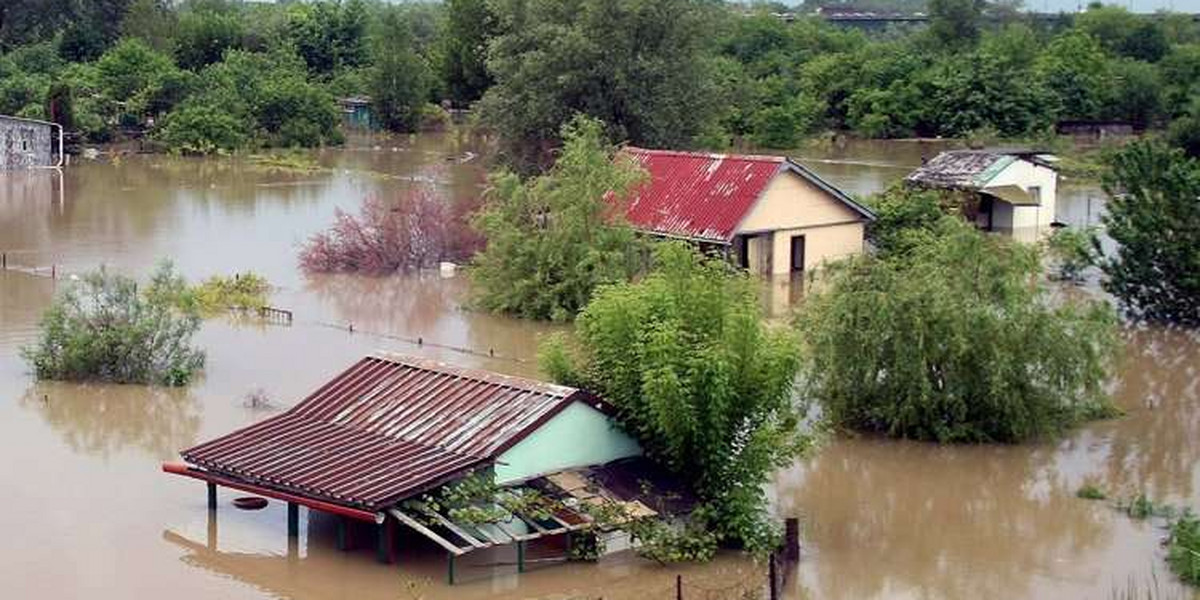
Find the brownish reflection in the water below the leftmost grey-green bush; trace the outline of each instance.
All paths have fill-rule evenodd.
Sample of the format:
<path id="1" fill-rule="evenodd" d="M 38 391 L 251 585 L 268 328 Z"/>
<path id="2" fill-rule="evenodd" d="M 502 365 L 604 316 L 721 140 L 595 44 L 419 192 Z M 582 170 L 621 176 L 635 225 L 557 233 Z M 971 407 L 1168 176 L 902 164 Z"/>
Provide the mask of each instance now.
<path id="1" fill-rule="evenodd" d="M 43 382 L 18 401 L 76 452 L 108 458 L 124 450 L 174 455 L 197 438 L 200 408 L 185 389 Z"/>

